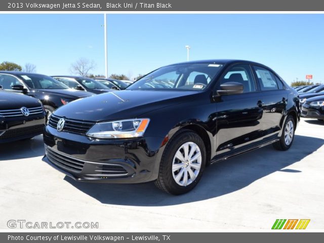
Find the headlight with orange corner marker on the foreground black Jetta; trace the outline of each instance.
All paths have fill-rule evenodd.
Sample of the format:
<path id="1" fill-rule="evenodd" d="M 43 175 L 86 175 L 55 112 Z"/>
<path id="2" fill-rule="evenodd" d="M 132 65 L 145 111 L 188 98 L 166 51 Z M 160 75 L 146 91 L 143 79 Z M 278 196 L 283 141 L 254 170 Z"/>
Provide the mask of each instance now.
<path id="1" fill-rule="evenodd" d="M 148 118 L 139 118 L 97 123 L 88 131 L 87 136 L 93 138 L 142 137 L 149 122 Z"/>

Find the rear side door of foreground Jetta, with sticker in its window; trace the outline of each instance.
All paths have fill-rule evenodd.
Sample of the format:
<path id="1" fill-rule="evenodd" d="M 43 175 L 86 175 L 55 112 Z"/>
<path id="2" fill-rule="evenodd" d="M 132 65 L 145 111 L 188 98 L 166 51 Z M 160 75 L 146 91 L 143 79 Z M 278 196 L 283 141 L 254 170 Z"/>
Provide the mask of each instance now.
<path id="1" fill-rule="evenodd" d="M 260 66 L 253 66 L 253 70 L 261 90 L 259 106 L 263 109 L 262 130 L 265 137 L 275 137 L 282 126 L 288 92 L 271 70 Z"/>

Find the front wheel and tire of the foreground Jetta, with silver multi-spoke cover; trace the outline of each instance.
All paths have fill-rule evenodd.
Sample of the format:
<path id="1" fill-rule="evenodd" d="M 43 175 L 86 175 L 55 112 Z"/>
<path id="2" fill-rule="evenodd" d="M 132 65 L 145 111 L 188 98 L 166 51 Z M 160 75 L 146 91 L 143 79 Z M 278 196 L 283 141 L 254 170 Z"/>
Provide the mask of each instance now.
<path id="1" fill-rule="evenodd" d="M 190 153 L 191 151 L 192 153 Z M 182 160 L 179 159 L 181 157 L 179 152 L 182 155 Z M 188 154 L 188 157 L 185 154 Z M 193 158 L 192 161 L 190 161 L 190 157 Z M 155 185 L 170 194 L 187 193 L 197 185 L 205 166 L 206 148 L 204 141 L 191 130 L 182 130 L 167 144 L 161 158 Z M 173 168 L 179 169 L 173 171 Z"/>

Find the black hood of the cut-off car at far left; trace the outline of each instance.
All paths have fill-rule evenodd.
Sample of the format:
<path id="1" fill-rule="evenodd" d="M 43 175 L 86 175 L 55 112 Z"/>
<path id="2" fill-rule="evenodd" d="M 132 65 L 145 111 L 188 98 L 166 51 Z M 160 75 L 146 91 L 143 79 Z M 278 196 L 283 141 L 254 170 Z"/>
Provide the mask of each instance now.
<path id="1" fill-rule="evenodd" d="M 24 94 L 0 91 L 0 110 L 20 109 L 21 107 L 41 106 L 37 99 Z"/>

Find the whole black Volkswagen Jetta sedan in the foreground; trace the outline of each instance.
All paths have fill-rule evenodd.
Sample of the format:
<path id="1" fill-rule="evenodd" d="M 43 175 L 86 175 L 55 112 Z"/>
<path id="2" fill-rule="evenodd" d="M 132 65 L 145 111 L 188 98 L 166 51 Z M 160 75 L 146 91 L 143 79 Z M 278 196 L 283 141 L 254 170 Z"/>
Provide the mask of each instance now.
<path id="1" fill-rule="evenodd" d="M 186 62 L 56 110 L 43 160 L 78 181 L 155 181 L 182 194 L 211 163 L 271 143 L 289 149 L 299 119 L 297 92 L 270 68 Z"/>

